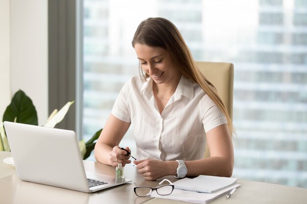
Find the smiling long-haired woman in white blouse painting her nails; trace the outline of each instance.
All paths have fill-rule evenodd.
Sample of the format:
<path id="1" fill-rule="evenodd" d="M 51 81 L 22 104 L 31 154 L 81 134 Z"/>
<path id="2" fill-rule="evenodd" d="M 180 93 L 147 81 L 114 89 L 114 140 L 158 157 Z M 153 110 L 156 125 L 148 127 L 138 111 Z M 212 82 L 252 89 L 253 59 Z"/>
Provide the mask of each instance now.
<path id="1" fill-rule="evenodd" d="M 95 146 L 97 161 L 112 166 L 131 162 L 118 145 L 132 125 L 135 157 L 140 159 L 134 164 L 146 180 L 167 175 L 230 177 L 230 117 L 176 26 L 149 18 L 138 26 L 132 46 L 142 74 L 120 91 Z M 206 142 L 210 157 L 204 159 Z"/>

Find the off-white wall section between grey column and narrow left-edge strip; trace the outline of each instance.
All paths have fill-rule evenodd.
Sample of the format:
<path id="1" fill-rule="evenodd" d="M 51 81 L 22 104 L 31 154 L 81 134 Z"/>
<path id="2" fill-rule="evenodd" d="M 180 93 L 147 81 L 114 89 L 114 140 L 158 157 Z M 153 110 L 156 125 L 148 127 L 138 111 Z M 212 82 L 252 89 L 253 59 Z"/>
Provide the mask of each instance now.
<path id="1" fill-rule="evenodd" d="M 10 28 L 11 95 L 25 91 L 43 125 L 48 118 L 48 0 L 10 0 Z"/>

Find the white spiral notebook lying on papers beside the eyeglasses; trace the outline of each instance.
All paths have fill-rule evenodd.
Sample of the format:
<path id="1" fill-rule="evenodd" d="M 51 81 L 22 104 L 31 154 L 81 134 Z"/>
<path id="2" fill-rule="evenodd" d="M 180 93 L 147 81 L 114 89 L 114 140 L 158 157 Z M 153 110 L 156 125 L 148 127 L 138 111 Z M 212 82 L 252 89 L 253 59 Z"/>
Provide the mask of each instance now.
<path id="1" fill-rule="evenodd" d="M 185 178 L 184 180 L 185 181 L 175 184 L 175 189 L 213 193 L 234 184 L 237 178 L 200 175 L 194 179 Z"/>

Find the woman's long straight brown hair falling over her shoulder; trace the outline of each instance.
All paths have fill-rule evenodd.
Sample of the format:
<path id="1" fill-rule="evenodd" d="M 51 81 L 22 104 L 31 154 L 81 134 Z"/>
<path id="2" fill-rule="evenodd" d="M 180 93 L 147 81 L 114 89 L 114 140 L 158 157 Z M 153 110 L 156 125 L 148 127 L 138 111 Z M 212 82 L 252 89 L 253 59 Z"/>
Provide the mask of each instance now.
<path id="1" fill-rule="evenodd" d="M 188 46 L 172 22 L 164 18 L 148 18 L 142 21 L 135 31 L 132 46 L 134 47 L 137 43 L 166 49 L 173 61 L 177 63 L 180 73 L 190 81 L 199 84 L 210 99 L 223 111 L 227 118 L 230 135 L 233 135 L 232 121 L 224 102 L 215 87 L 197 68 Z M 140 70 L 140 72 L 142 71 Z M 148 78 L 149 75 L 145 73 L 144 77 Z"/>

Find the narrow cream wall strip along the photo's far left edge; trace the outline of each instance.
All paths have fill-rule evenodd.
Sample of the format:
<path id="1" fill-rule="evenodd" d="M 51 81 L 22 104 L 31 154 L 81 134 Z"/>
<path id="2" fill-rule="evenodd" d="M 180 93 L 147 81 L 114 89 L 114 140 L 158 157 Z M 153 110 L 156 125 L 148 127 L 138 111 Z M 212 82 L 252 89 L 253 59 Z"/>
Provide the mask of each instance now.
<path id="1" fill-rule="evenodd" d="M 10 104 L 10 0 L 0 0 L 0 121 Z"/>

